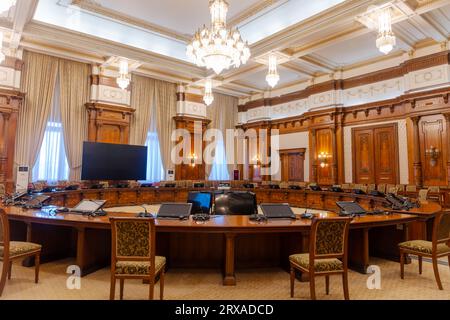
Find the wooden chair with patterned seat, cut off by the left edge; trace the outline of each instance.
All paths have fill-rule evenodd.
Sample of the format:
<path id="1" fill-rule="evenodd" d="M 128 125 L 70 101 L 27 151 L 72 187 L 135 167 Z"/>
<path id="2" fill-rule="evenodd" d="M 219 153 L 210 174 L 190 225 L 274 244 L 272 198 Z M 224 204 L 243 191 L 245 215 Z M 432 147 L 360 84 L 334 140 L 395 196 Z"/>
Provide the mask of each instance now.
<path id="1" fill-rule="evenodd" d="M 32 242 L 10 241 L 8 216 L 3 209 L 0 209 L 0 261 L 2 261 L 0 296 L 5 288 L 6 278 L 11 279 L 12 263 L 14 260 L 34 256 L 34 282 L 39 282 L 41 248 L 42 246 L 40 244 Z"/>

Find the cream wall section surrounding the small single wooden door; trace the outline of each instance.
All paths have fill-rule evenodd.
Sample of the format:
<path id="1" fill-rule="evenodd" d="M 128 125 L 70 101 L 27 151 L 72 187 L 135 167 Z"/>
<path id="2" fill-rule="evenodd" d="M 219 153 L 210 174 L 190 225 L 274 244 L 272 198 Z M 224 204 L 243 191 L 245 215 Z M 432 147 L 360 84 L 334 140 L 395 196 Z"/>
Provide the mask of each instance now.
<path id="1" fill-rule="evenodd" d="M 309 181 L 309 133 L 295 132 L 272 136 L 272 146 L 275 145 L 274 139 L 279 139 L 279 150 L 306 148 L 304 162 L 305 181 Z M 281 167 L 276 175 L 272 176 L 272 180 L 281 180 Z"/>

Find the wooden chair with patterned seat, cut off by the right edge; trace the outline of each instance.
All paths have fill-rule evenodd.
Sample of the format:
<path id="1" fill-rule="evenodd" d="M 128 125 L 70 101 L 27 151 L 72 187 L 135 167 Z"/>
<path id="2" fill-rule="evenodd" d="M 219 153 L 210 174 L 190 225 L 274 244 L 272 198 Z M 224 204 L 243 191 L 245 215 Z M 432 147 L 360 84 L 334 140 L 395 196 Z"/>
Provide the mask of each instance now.
<path id="1" fill-rule="evenodd" d="M 422 274 L 422 258 L 431 258 L 434 277 L 439 290 L 443 290 L 439 277 L 438 258 L 447 257 L 450 266 L 450 211 L 438 213 L 434 218 L 431 241 L 411 240 L 399 243 L 400 278 L 405 277 L 405 256 L 416 255 L 419 259 L 419 274 Z"/>

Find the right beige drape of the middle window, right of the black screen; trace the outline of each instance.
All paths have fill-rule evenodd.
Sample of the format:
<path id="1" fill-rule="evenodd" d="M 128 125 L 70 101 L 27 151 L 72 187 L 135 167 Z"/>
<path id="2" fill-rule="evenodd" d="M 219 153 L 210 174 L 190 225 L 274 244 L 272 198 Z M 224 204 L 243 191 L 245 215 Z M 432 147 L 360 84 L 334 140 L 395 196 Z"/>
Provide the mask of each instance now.
<path id="1" fill-rule="evenodd" d="M 173 117 L 177 114 L 176 84 L 155 80 L 155 103 L 161 159 L 166 174 L 167 169 L 175 169 L 170 154 L 174 145 L 171 141 L 172 131 L 175 130 Z"/>

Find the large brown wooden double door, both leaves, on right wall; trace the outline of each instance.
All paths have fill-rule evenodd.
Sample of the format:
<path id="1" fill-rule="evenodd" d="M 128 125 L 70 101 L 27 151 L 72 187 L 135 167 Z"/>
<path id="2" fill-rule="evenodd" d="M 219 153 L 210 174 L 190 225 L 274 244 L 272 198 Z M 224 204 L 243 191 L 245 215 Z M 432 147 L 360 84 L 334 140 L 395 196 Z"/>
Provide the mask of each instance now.
<path id="1" fill-rule="evenodd" d="M 355 183 L 398 183 L 397 124 L 352 129 Z"/>

